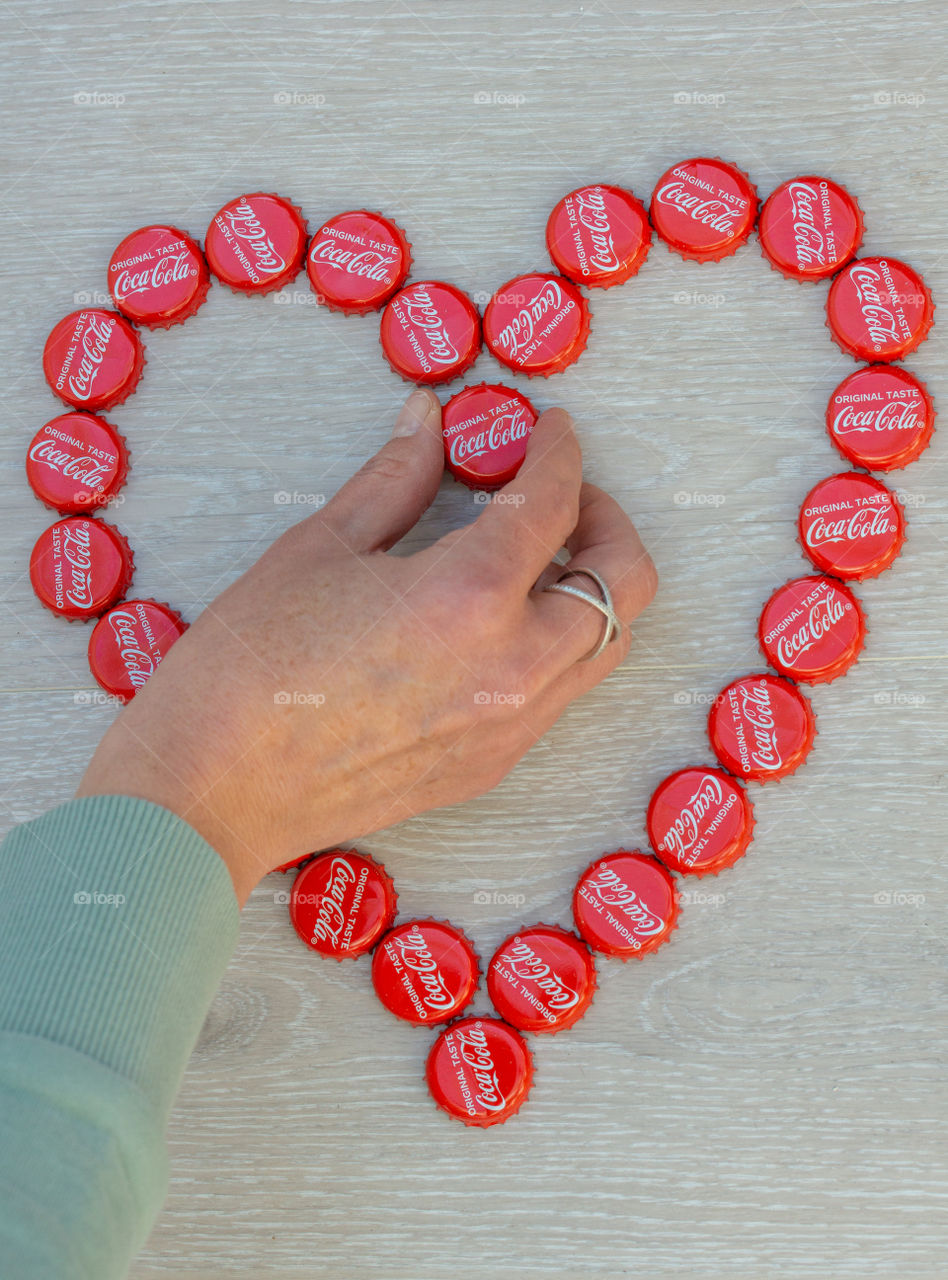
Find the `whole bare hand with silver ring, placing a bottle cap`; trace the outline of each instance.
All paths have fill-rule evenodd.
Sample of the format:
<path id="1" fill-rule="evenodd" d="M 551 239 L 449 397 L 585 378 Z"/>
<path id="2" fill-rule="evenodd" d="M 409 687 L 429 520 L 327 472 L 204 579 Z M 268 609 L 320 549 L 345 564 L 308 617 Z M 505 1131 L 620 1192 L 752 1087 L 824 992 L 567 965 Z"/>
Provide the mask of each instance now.
<path id="1" fill-rule="evenodd" d="M 604 618 L 540 590 L 563 572 L 554 556 L 565 545 L 597 570 L 623 623 L 656 573 L 618 503 L 582 483 L 563 410 L 540 417 L 518 476 L 470 526 L 386 556 L 443 465 L 440 403 L 415 390 L 385 447 L 174 645 L 77 794 L 179 814 L 243 904 L 281 863 L 495 786 L 628 652 L 624 626 L 580 660 Z"/>

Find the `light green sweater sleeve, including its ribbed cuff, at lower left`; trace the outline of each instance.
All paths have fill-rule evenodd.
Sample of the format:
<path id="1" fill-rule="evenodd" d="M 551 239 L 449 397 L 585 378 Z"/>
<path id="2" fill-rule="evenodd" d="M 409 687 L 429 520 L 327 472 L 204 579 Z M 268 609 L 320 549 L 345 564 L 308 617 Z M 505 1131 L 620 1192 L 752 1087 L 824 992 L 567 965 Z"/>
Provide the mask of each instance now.
<path id="1" fill-rule="evenodd" d="M 146 800 L 69 800 L 0 845 L 4 1276 L 127 1274 L 238 919 L 215 850 Z"/>

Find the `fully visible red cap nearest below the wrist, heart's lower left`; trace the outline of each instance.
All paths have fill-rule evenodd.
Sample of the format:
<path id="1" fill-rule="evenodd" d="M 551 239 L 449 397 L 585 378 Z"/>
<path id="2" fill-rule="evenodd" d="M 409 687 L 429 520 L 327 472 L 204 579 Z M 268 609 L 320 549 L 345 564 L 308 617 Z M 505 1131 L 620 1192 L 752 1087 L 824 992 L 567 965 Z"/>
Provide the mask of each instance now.
<path id="1" fill-rule="evenodd" d="M 380 863 L 354 849 L 330 849 L 293 881 L 289 918 L 307 947 L 348 960 L 372 950 L 391 927 L 397 905 L 395 886 Z"/>

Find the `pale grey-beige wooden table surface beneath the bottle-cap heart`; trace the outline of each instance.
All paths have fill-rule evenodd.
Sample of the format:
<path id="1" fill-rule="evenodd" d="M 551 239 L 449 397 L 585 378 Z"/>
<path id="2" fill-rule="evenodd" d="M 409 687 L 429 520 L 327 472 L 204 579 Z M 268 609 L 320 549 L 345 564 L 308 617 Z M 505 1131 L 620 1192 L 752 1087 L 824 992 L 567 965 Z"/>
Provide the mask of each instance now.
<path id="1" fill-rule="evenodd" d="M 51 516 L 22 468 L 61 411 L 46 333 L 107 303 L 105 265 L 132 228 L 202 236 L 255 189 L 290 196 L 311 227 L 377 207 L 407 229 L 418 274 L 484 301 L 545 266 L 545 219 L 571 187 L 647 200 L 675 160 L 719 154 L 761 195 L 801 173 L 843 182 L 865 251 L 948 297 L 935 0 L 8 0 L 0 23 L 5 826 L 72 794 L 114 716 L 87 628 L 31 593 Z M 449 916 L 484 955 L 517 924 L 568 923 L 585 863 L 644 844 L 658 781 L 710 760 L 707 703 L 760 666 L 760 604 L 807 568 L 798 504 L 841 470 L 823 412 L 855 366 L 824 298 L 769 270 L 756 239 L 718 265 L 655 246 L 638 278 L 591 300 L 576 366 L 513 379 L 576 416 L 586 474 L 637 522 L 661 589 L 623 667 L 500 787 L 362 842 L 407 914 Z M 936 398 L 945 332 L 907 361 Z M 137 593 L 193 618 L 306 515 L 275 494 L 331 495 L 406 387 L 376 319 L 326 312 L 304 279 L 265 298 L 215 287 L 194 320 L 147 335 L 147 356 L 110 415 L 133 453 L 114 520 Z M 472 376 L 499 374 L 485 355 Z M 509 1124 L 439 1112 L 431 1034 L 377 1004 L 367 960 L 306 951 L 283 877 L 260 886 L 178 1098 L 170 1193 L 134 1280 L 945 1275 L 947 452 L 936 431 L 892 476 L 908 541 L 858 588 L 865 657 L 812 691 L 810 762 L 751 788 L 750 852 L 684 886 L 673 941 L 603 963 L 589 1015 L 533 1042 L 536 1085 Z M 408 544 L 478 509 L 445 481 Z"/>

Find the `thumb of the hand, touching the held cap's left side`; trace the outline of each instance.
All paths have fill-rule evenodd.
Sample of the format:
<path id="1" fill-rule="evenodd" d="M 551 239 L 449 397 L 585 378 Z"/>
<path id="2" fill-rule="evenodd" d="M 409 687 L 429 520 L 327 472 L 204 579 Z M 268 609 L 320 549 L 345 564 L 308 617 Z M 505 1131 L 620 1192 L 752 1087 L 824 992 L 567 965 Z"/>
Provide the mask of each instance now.
<path id="1" fill-rule="evenodd" d="M 320 512 L 354 552 L 388 550 L 434 502 L 444 472 L 441 402 L 416 387 L 391 436 Z"/>

